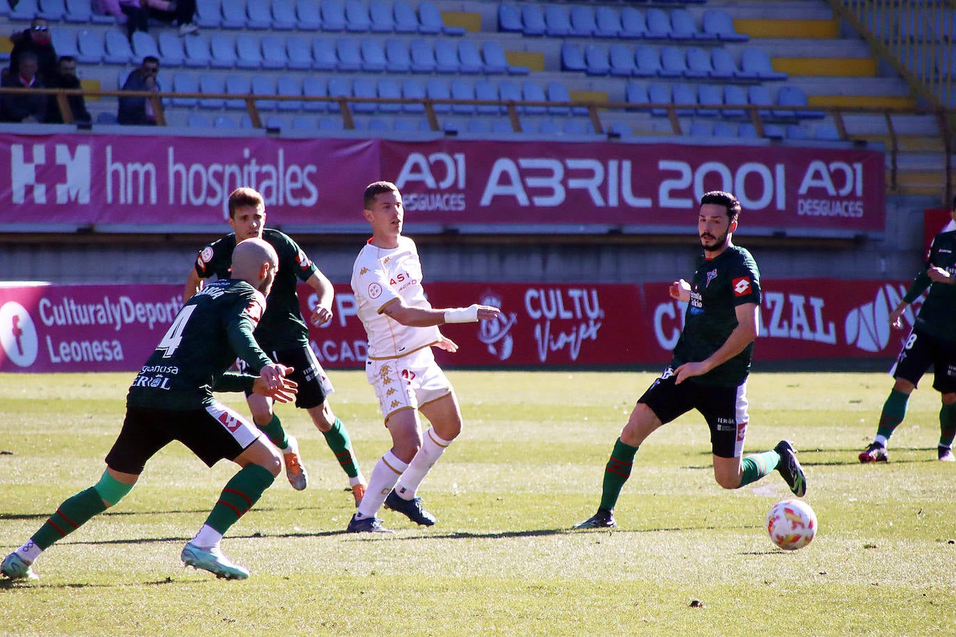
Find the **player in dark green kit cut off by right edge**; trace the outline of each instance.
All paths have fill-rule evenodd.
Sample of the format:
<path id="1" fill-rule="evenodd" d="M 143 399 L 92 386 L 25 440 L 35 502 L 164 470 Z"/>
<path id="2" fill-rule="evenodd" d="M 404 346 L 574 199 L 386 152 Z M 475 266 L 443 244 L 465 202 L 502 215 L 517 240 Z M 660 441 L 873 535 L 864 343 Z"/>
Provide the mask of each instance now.
<path id="1" fill-rule="evenodd" d="M 956 223 L 956 199 L 949 212 Z M 895 382 L 883 410 L 877 435 L 859 455 L 860 462 L 886 462 L 886 443 L 906 415 L 909 395 L 932 365 L 933 389 L 943 395 L 940 407 L 940 442 L 937 457 L 956 461 L 952 453 L 956 436 L 956 230 L 944 228 L 933 238 L 926 264 L 902 301 L 890 312 L 890 325 L 902 328 L 902 313 L 929 288 L 923 307 L 916 315 L 913 329 L 903 343 L 900 356 L 890 370 Z"/>

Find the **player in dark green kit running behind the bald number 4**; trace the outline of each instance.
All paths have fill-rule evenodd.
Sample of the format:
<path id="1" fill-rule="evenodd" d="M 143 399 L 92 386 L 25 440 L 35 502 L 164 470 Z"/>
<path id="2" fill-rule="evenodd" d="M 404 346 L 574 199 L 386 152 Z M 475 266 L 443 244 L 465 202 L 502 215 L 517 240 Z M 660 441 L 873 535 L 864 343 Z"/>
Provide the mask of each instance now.
<path id="1" fill-rule="evenodd" d="M 361 475 L 348 430 L 329 404 L 329 394 L 335 390 L 309 347 L 309 329 L 302 319 L 295 291 L 299 281 L 315 290 L 318 303 L 311 320 L 315 325 L 325 325 L 332 320 L 335 296 L 332 283 L 290 237 L 265 227 L 266 203 L 258 192 L 252 188 L 235 189 L 229 194 L 228 210 L 229 225 L 234 232 L 200 251 L 195 266 L 189 271 L 184 298 L 188 299 L 202 289 L 203 281 L 208 277 L 228 278 L 229 259 L 236 241 L 258 237 L 272 244 L 279 255 L 279 273 L 272 286 L 266 313 L 255 329 L 255 340 L 274 360 L 295 370 L 292 377 L 299 390 L 295 406 L 306 410 L 315 427 L 325 436 L 326 443 L 349 478 L 352 496 L 359 506 L 365 494 L 365 478 Z M 286 434 L 279 416 L 272 409 L 272 400 L 254 393 L 247 393 L 247 398 L 252 420 L 282 452 L 286 478 L 297 491 L 305 489 L 308 474 L 302 465 L 298 441 L 293 435 Z"/>

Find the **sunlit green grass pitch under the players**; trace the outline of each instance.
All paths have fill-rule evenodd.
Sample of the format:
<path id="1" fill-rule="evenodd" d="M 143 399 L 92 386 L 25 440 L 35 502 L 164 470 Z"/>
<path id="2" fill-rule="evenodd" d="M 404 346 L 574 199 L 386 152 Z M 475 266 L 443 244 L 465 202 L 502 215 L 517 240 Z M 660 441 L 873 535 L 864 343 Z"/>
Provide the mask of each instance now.
<path id="1" fill-rule="evenodd" d="M 125 374 L 0 374 L 0 551 L 93 484 L 119 432 Z M 884 373 L 750 377 L 745 453 L 789 438 L 807 472 L 815 541 L 785 553 L 763 528 L 790 496 L 774 473 L 713 480 L 695 413 L 652 435 L 613 531 L 594 513 L 614 440 L 652 372 L 449 376 L 464 433 L 420 495 L 425 529 L 347 535 L 347 480 L 304 412 L 279 406 L 310 485 L 276 480 L 223 547 L 243 582 L 185 569 L 183 544 L 234 473 L 178 444 L 113 509 L 55 544 L 35 583 L 0 582 L 0 633 L 90 635 L 952 634 L 956 466 L 936 460 L 939 394 L 914 393 L 890 462 L 860 465 L 891 386 Z M 331 372 L 333 407 L 371 472 L 388 435 L 362 372 Z M 224 396 L 246 413 L 241 396 Z"/>

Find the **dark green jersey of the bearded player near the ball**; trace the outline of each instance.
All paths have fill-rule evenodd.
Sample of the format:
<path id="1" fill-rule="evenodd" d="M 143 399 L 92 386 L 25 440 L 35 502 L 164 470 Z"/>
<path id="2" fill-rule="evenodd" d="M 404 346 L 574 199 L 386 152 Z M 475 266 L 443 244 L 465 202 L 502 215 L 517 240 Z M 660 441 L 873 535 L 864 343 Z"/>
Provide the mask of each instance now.
<path id="1" fill-rule="evenodd" d="M 730 245 L 714 259 L 698 266 L 690 282 L 690 303 L 684 313 L 684 331 L 674 348 L 671 369 L 702 361 L 719 350 L 738 325 L 736 308 L 760 305 L 760 272 L 750 252 Z M 688 380 L 706 385 L 735 387 L 747 380 L 753 343 L 710 372 Z"/>

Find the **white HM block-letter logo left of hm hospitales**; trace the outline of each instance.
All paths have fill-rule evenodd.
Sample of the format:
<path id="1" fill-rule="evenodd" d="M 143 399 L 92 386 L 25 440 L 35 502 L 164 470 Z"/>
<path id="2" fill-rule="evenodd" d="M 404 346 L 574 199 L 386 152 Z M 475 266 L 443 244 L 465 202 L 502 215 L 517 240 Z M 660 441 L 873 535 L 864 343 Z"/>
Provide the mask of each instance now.
<path id="1" fill-rule="evenodd" d="M 27 151 L 30 149 L 30 159 Z M 11 144 L 10 147 L 10 177 L 13 189 L 13 203 L 23 203 L 27 199 L 27 192 L 34 203 L 47 203 L 47 185 L 52 176 L 46 179 L 37 179 L 39 172 L 52 172 L 52 169 L 43 171 L 42 166 L 47 164 L 47 147 L 45 144 Z M 89 203 L 90 202 L 90 158 L 92 150 L 89 144 L 77 144 L 76 152 L 71 155 L 70 147 L 66 144 L 55 144 L 54 165 L 63 166 L 66 179 L 54 183 L 56 203 Z"/>

